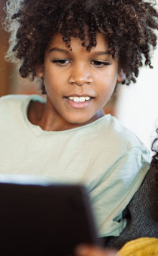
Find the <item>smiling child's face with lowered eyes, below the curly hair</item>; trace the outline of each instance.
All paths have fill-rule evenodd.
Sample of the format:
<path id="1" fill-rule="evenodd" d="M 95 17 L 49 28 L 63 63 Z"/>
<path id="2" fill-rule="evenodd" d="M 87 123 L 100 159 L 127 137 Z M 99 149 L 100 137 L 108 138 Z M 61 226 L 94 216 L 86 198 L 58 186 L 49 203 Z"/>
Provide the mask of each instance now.
<path id="1" fill-rule="evenodd" d="M 61 123 L 57 130 L 91 123 L 102 117 L 102 108 L 111 98 L 118 82 L 118 59 L 113 59 L 108 43 L 97 34 L 97 45 L 87 52 L 79 38 L 71 38 L 72 51 L 56 33 L 37 75 L 44 78 L 47 90 L 47 117 Z M 64 128 L 66 127 L 66 128 Z"/>

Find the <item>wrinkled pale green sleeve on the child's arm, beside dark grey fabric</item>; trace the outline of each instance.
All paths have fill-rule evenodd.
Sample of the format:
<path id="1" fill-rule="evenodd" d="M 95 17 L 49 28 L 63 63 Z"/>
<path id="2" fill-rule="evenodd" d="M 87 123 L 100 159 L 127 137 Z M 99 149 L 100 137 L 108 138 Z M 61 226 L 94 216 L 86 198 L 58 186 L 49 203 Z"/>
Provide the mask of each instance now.
<path id="1" fill-rule="evenodd" d="M 114 164 L 96 179 L 91 202 L 99 236 L 119 236 L 126 227 L 123 210 L 141 186 L 150 164 L 145 147 L 132 148 L 120 155 Z M 108 172 L 108 175 L 107 175 Z"/>

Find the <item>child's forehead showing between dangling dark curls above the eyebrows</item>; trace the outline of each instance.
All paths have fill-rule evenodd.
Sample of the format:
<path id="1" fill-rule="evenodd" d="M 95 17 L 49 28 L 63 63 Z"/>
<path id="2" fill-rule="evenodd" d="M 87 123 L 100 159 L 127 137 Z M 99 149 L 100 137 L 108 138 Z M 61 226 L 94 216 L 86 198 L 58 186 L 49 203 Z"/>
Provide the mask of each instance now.
<path id="1" fill-rule="evenodd" d="M 71 37 L 71 49 L 73 50 L 81 49 L 86 50 L 86 47 L 82 46 L 83 41 L 77 37 Z M 87 45 L 89 44 L 89 38 L 87 37 Z M 50 44 L 47 50 L 52 49 L 53 47 L 59 47 L 65 50 L 68 50 L 65 42 L 62 40 L 62 35 L 59 32 L 56 32 L 53 37 L 51 38 Z M 96 47 L 93 47 L 90 52 L 94 50 L 108 50 L 108 40 L 105 38 L 105 35 L 99 32 L 96 32 Z"/>

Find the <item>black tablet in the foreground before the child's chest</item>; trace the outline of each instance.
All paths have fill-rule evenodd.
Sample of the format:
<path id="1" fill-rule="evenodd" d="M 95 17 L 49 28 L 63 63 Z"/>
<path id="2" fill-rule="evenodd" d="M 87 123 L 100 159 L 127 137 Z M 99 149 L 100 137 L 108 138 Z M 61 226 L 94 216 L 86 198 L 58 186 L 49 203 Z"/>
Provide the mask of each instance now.
<path id="1" fill-rule="evenodd" d="M 82 185 L 0 183 L 2 255 L 73 255 L 97 244 L 87 190 Z"/>

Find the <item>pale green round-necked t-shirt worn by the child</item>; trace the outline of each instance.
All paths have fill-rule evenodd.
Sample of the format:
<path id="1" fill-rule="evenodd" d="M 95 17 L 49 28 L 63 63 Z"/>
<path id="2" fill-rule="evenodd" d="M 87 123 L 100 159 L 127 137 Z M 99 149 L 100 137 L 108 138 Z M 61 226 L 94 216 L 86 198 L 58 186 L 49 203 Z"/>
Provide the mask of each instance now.
<path id="1" fill-rule="evenodd" d="M 44 102 L 41 96 L 0 99 L 0 173 L 85 184 L 99 236 L 118 236 L 126 226 L 123 209 L 147 173 L 149 152 L 110 114 L 71 130 L 41 130 L 28 120 L 30 100 Z"/>

